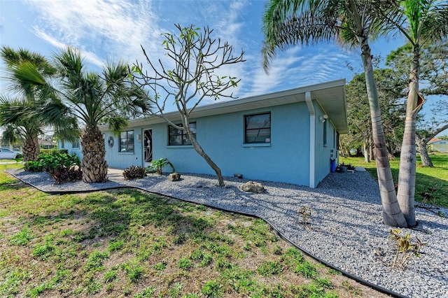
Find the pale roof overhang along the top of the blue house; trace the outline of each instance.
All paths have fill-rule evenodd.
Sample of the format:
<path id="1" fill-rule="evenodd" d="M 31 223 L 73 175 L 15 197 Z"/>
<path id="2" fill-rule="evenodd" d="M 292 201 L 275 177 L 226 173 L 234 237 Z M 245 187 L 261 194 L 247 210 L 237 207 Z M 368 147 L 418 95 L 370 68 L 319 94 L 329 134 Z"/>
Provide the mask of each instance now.
<path id="1" fill-rule="evenodd" d="M 311 92 L 311 99 L 315 99 L 328 115 L 330 121 L 335 125 L 339 134 L 346 134 L 349 131 L 346 98 L 345 98 L 345 79 L 334 80 L 331 82 L 298 87 L 291 90 L 279 91 L 269 94 L 262 94 L 243 99 L 222 101 L 216 104 L 197 106 L 191 113 L 190 118 L 202 118 L 212 115 L 220 115 L 239 111 L 248 111 L 255 108 L 266 108 L 269 106 L 280 106 L 283 104 L 293 104 L 305 101 L 305 93 Z M 171 121 L 181 119 L 179 111 L 165 113 L 165 116 Z M 164 119 L 157 116 L 150 116 L 131 120 L 129 127 L 138 127 L 142 125 L 152 125 L 165 122 Z M 107 130 L 107 125 L 100 126 L 102 131 Z"/>

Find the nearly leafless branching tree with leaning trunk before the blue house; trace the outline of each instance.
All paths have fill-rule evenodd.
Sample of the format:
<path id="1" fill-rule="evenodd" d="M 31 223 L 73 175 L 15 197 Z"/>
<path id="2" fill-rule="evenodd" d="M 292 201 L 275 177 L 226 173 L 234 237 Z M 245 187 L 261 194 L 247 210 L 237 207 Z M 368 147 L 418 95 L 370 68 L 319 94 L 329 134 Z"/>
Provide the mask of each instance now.
<path id="1" fill-rule="evenodd" d="M 213 29 L 209 27 L 201 30 L 193 24 L 189 27 L 176 24 L 176 28 L 178 35 L 165 33 L 165 41 L 162 43 L 174 67 L 168 68 L 160 59 L 158 63 L 151 60 L 142 47 L 151 74 L 143 72 L 142 64 L 134 65 L 134 70 L 140 74 L 135 76 L 135 83 L 141 88 L 148 87 L 155 93 L 152 102 L 157 108 L 152 115 L 163 118 L 175 129 L 186 132 L 193 148 L 215 171 L 218 185 L 223 186 L 221 169 L 195 139 L 189 125 L 190 115 L 203 99 L 235 98 L 226 91 L 236 87 L 239 80 L 230 76 L 219 76 L 216 71 L 222 66 L 243 62 L 244 52 L 234 55 L 232 45 L 212 38 Z M 176 125 L 165 116 L 167 100 L 174 101 L 181 114 L 181 125 Z"/>

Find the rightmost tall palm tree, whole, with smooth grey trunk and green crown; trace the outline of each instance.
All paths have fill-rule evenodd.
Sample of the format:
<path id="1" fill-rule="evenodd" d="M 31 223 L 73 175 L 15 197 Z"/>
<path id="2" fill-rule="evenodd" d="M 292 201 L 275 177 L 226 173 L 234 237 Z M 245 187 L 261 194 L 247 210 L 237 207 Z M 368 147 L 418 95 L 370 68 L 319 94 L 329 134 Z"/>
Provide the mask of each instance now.
<path id="1" fill-rule="evenodd" d="M 384 12 L 382 12 L 384 13 Z M 407 93 L 405 134 L 400 154 L 398 176 L 398 203 L 407 225 L 416 225 L 414 194 L 416 176 L 416 115 L 423 106 L 419 95 L 420 52 L 434 41 L 448 36 L 448 2 L 440 0 L 402 1 L 398 14 L 385 18 L 400 31 L 412 45 L 412 62 Z"/>

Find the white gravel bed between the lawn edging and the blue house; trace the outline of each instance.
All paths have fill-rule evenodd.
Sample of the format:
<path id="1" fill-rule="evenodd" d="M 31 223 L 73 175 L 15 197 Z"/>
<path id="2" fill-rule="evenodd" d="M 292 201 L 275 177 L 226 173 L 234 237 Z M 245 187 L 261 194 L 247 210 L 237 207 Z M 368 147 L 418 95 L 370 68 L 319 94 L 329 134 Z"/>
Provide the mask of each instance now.
<path id="1" fill-rule="evenodd" d="M 303 250 L 358 276 L 407 297 L 448 297 L 448 218 L 416 208 L 418 229 L 403 229 L 428 245 L 421 257 L 411 257 L 405 270 L 391 267 L 395 255 L 391 227 L 381 222 L 381 199 L 377 183 L 365 171 L 330 173 L 316 189 L 260 181 L 262 194 L 239 190 L 248 180 L 225 178 L 216 186 L 214 176 L 183 174 L 171 182 L 167 176 L 123 180 L 113 175 L 106 183 L 53 185 L 47 173 L 8 170 L 44 192 L 101 190 L 109 187 L 138 187 L 186 201 L 256 215 L 271 223 L 283 236 Z M 300 222 L 300 208 L 311 210 L 309 225 Z M 446 208 L 434 209 L 448 215 Z"/>

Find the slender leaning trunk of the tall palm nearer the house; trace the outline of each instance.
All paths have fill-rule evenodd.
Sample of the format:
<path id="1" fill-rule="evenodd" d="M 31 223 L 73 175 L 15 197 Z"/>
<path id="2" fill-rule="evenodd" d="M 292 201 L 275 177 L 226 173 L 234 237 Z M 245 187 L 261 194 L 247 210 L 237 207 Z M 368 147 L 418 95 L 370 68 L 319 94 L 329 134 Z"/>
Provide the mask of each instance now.
<path id="1" fill-rule="evenodd" d="M 379 111 L 379 99 L 377 86 L 373 76 L 372 56 L 367 38 L 360 40 L 365 73 L 365 83 L 367 87 L 367 97 L 370 106 L 370 118 L 372 120 L 372 136 L 374 143 L 374 157 L 377 164 L 378 184 L 381 194 L 381 204 L 383 206 L 383 222 L 392 227 L 406 227 L 407 222 L 400 206 L 398 205 L 393 183 L 391 165 L 389 164 L 388 151 L 386 148 L 386 137 L 384 136 L 381 122 L 381 112 Z"/>

